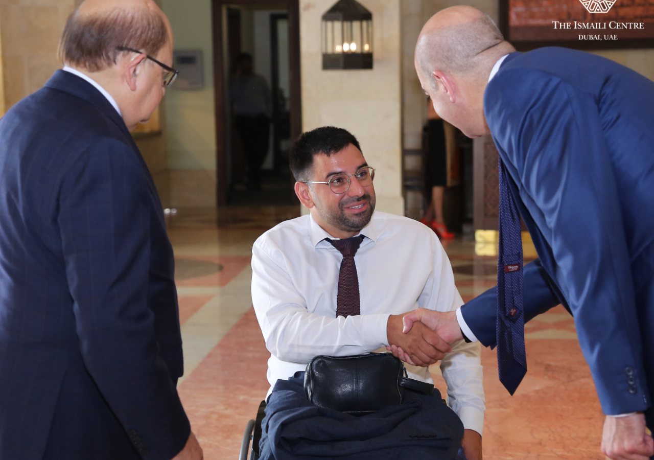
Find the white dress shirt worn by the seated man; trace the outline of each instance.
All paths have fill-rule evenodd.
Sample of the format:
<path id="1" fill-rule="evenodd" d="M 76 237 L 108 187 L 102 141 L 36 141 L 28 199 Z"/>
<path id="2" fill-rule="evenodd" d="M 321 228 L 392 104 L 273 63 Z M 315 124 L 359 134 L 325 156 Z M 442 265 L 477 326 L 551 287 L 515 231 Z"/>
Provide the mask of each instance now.
<path id="1" fill-rule="evenodd" d="M 375 212 L 360 234 L 366 238 L 354 262 L 361 315 L 347 318 L 336 317 L 343 256 L 325 241 L 332 237 L 311 215 L 282 222 L 254 243 L 252 302 L 271 353 L 271 385 L 305 370 L 317 355 L 358 355 L 385 347 L 390 315 L 419 307 L 451 311 L 463 304 L 449 259 L 427 226 Z M 449 406 L 466 429 L 481 434 L 485 398 L 480 357 L 479 344 L 461 340 L 440 367 Z M 407 365 L 407 372 L 432 382 L 428 368 Z"/>

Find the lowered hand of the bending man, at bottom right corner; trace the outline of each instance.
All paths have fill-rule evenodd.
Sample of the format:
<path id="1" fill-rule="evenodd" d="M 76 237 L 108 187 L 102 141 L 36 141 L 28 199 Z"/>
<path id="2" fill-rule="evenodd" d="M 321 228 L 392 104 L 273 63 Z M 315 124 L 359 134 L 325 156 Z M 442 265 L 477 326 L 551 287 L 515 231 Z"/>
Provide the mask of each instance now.
<path id="1" fill-rule="evenodd" d="M 654 440 L 646 432 L 645 415 L 606 416 L 602 453 L 611 460 L 649 460 L 654 455 Z"/>

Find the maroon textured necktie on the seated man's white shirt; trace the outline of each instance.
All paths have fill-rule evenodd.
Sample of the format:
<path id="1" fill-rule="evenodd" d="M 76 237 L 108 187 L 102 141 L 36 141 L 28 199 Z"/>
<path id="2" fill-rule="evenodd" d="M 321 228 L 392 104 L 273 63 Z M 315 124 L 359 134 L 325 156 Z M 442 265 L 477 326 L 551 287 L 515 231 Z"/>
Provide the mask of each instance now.
<path id="1" fill-rule="evenodd" d="M 338 274 L 338 294 L 336 300 L 336 317 L 356 316 L 361 314 L 359 300 L 359 278 L 356 275 L 354 255 L 359 249 L 364 236 L 358 235 L 352 238 L 333 239 L 326 238 L 343 255 L 341 271 Z"/>

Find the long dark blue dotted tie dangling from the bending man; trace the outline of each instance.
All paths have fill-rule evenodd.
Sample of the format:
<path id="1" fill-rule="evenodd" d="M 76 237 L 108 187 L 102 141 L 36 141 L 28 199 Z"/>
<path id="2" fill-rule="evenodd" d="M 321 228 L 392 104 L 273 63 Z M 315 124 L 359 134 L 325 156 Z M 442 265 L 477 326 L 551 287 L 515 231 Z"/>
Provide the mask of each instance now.
<path id="1" fill-rule="evenodd" d="M 527 372 L 520 213 L 500 158 L 500 236 L 497 264 L 497 362 L 500 381 L 513 395 Z"/>

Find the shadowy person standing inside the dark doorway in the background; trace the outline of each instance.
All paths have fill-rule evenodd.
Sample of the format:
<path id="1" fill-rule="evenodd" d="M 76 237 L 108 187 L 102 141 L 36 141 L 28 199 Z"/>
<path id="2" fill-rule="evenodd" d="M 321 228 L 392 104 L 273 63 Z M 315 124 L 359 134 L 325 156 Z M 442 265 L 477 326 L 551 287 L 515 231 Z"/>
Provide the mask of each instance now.
<path id="1" fill-rule="evenodd" d="M 252 56 L 236 58 L 236 73 L 230 82 L 230 99 L 236 132 L 239 133 L 248 167 L 248 188 L 261 188 L 261 165 L 270 141 L 273 102 L 266 79 L 252 71 Z"/>

